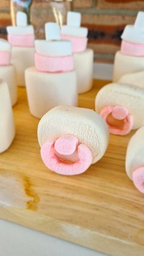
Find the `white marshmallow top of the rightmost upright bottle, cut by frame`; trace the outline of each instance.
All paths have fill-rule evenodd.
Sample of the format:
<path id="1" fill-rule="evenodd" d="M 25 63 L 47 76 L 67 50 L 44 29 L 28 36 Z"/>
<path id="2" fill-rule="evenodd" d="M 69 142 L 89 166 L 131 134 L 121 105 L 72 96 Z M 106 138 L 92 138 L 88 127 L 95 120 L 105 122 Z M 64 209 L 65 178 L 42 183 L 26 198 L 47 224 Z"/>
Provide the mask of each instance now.
<path id="1" fill-rule="evenodd" d="M 131 43 L 144 43 L 144 12 L 139 12 L 134 25 L 124 28 L 121 38 Z"/>

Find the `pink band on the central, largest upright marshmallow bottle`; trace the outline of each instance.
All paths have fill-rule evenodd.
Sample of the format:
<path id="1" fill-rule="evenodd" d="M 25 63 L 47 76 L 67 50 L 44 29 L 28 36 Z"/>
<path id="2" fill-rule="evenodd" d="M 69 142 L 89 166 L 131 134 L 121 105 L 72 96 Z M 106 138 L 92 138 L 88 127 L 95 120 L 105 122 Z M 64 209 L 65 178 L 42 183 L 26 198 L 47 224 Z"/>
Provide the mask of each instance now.
<path id="1" fill-rule="evenodd" d="M 49 57 L 35 53 L 35 67 L 42 72 L 65 72 L 74 69 L 73 55 Z"/>

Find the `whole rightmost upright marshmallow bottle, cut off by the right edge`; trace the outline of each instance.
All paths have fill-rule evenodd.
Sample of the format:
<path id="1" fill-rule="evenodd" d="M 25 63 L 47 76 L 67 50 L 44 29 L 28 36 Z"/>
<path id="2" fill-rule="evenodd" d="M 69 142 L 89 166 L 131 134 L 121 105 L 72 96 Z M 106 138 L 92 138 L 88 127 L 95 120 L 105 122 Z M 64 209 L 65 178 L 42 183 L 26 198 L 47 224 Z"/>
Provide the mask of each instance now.
<path id="1" fill-rule="evenodd" d="M 144 12 L 121 35 L 121 49 L 115 54 L 113 82 L 144 87 Z M 132 76 L 131 76 L 132 75 Z"/>

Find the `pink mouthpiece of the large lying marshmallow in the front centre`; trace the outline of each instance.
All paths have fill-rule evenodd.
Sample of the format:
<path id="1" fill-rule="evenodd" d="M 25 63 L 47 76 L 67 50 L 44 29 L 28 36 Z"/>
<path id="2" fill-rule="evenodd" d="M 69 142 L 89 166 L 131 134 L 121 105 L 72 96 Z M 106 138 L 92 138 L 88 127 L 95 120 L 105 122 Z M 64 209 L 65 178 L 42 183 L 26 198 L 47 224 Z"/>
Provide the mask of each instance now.
<path id="1" fill-rule="evenodd" d="M 78 145 L 73 135 L 49 139 L 41 147 L 45 166 L 62 175 L 82 174 L 92 164 L 92 153 L 84 144 Z"/>

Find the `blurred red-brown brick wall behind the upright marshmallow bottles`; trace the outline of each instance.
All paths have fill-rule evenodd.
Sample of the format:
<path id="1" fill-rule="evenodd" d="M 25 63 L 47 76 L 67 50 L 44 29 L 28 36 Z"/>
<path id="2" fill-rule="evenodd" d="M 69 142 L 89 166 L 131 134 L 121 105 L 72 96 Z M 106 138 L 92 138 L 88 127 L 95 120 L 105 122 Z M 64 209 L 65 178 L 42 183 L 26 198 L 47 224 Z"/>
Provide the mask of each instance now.
<path id="1" fill-rule="evenodd" d="M 46 21 L 47 6 L 48 0 L 33 0 L 31 21 L 37 28 L 38 36 L 38 26 Z M 144 10 L 144 1 L 73 0 L 73 10 L 82 13 L 82 26 L 89 29 L 88 46 L 94 49 L 96 59 L 112 62 L 115 51 L 120 48 L 120 35 L 124 26 L 134 23 L 137 12 Z M 8 24 L 10 24 L 9 0 L 0 0 L 1 37 L 5 36 L 5 26 Z"/>

